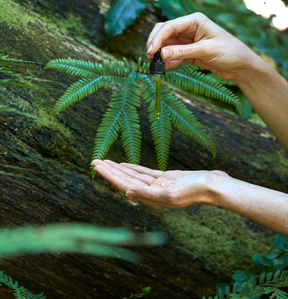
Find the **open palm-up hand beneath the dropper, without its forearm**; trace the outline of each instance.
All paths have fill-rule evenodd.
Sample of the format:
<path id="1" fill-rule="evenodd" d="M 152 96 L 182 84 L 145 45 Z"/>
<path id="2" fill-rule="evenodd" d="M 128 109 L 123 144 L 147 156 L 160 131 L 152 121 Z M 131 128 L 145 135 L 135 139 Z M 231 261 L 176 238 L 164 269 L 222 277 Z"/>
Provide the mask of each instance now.
<path id="1" fill-rule="evenodd" d="M 162 172 L 129 163 L 94 160 L 98 174 L 127 197 L 147 203 L 156 209 L 183 208 L 211 203 L 216 196 L 213 185 L 224 172 L 181 171 Z"/>

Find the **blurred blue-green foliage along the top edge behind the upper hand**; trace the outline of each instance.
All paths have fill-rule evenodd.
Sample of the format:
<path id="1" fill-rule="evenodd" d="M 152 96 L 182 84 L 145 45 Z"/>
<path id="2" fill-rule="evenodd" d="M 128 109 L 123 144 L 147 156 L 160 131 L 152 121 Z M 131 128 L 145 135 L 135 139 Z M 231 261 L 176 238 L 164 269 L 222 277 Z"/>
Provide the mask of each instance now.
<path id="1" fill-rule="evenodd" d="M 264 19 L 248 10 L 243 0 L 114 0 L 105 14 L 105 27 L 109 37 L 122 33 L 139 17 L 148 3 L 160 8 L 162 15 L 168 19 L 190 15 L 192 12 L 203 12 L 249 46 L 273 57 L 273 60 L 288 71 L 288 39 L 271 28 L 270 19 Z M 120 15 L 124 6 L 125 14 Z"/>

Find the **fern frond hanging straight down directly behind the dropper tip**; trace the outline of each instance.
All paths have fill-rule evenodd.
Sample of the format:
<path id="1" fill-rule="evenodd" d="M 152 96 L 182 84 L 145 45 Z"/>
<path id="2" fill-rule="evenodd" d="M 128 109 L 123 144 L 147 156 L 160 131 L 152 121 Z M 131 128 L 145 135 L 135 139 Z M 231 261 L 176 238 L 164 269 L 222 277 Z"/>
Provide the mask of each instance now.
<path id="1" fill-rule="evenodd" d="M 165 171 L 170 151 L 172 121 L 169 110 L 166 108 L 164 102 L 161 102 L 161 117 L 158 120 L 155 117 L 155 102 L 151 102 L 149 107 L 149 120 L 159 170 Z"/>

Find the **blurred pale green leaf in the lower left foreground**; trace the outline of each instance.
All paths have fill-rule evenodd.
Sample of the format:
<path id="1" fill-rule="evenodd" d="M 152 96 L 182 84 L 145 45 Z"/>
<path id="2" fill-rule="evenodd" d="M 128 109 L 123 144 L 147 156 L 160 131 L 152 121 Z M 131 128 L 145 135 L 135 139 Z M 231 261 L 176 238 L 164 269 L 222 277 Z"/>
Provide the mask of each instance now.
<path id="1" fill-rule="evenodd" d="M 159 245 L 161 233 L 136 234 L 126 228 L 102 228 L 92 224 L 64 223 L 0 230 L 0 257 L 24 253 L 84 253 L 138 262 L 125 245 Z"/>

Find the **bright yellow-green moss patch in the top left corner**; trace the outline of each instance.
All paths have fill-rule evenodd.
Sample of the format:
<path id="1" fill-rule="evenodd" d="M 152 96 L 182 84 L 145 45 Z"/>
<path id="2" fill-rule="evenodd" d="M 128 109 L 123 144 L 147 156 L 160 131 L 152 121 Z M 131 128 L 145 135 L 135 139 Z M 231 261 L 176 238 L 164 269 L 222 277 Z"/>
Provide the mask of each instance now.
<path id="1" fill-rule="evenodd" d="M 26 9 L 10 0 L 0 0 L 0 20 L 8 27 L 27 29 L 27 24 L 33 21 Z"/>

